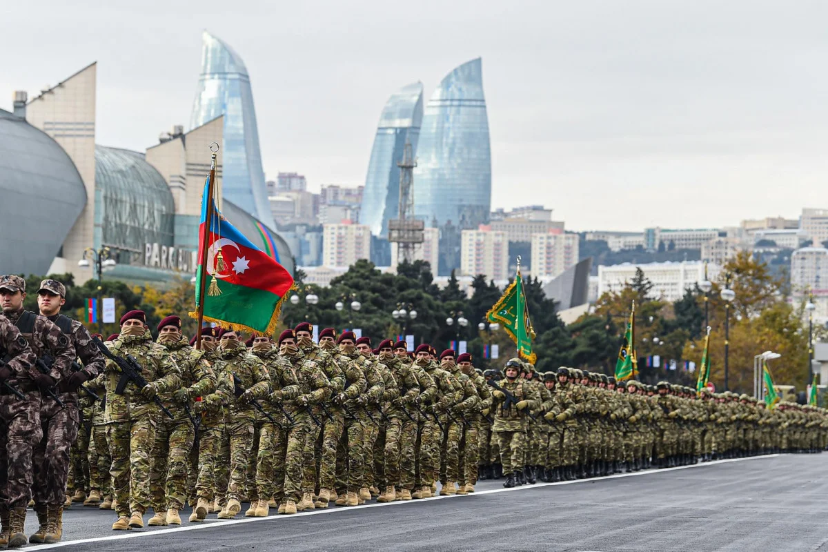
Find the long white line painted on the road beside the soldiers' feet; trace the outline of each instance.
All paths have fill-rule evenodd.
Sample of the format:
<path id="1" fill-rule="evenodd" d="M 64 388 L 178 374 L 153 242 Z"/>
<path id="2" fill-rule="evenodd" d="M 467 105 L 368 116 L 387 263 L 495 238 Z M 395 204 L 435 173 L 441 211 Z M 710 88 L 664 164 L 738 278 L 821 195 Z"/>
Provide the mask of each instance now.
<path id="1" fill-rule="evenodd" d="M 267 516 L 267 517 L 244 517 L 238 520 L 211 520 L 206 523 L 190 523 L 187 526 L 181 527 L 170 527 L 167 529 L 160 529 L 160 530 L 151 530 L 142 532 L 140 530 L 128 530 L 119 532 L 116 535 L 110 536 L 102 536 L 102 537 L 94 537 L 90 539 L 78 539 L 78 540 L 64 540 L 53 545 L 36 545 L 36 546 L 26 546 L 26 550 L 48 550 L 52 548 L 61 548 L 63 546 L 74 546 L 74 545 L 85 545 L 93 542 L 106 542 L 107 540 L 123 540 L 123 539 L 138 539 L 142 537 L 153 537 L 153 536 L 162 536 L 162 535 L 170 535 L 171 533 L 181 533 L 182 531 L 191 531 L 191 530 L 200 530 L 200 529 L 216 529 L 218 527 L 227 527 L 227 526 L 236 526 L 243 523 L 257 523 L 257 522 L 274 522 L 274 521 L 291 521 L 296 519 L 297 517 L 306 517 L 306 516 L 320 516 L 323 514 L 335 514 L 337 512 L 346 512 L 346 511 L 356 511 L 356 510 L 363 510 L 365 508 L 381 508 L 383 506 L 399 506 L 399 505 L 412 505 L 412 504 L 422 504 L 425 502 L 431 502 L 435 500 L 443 500 L 445 498 L 465 498 L 465 497 L 474 497 L 479 495 L 489 495 L 494 494 L 496 492 L 513 492 L 513 491 L 527 491 L 529 489 L 537 489 L 541 487 L 556 487 L 558 485 L 572 485 L 575 483 L 584 483 L 590 481 L 606 481 L 608 479 L 618 479 L 618 478 L 633 478 L 636 476 L 641 475 L 651 475 L 653 473 L 667 473 L 676 471 L 679 469 L 691 469 L 691 468 L 704 468 L 705 466 L 715 466 L 716 464 L 721 463 L 732 463 L 732 462 L 744 462 L 745 460 L 755 460 L 758 458 L 776 458 L 777 456 L 781 456 L 781 454 L 766 454 L 763 456 L 750 456 L 748 458 L 728 458 L 725 460 L 713 460 L 712 462 L 705 462 L 705 463 L 697 463 L 691 464 L 687 466 L 677 466 L 676 468 L 662 468 L 662 469 L 647 469 L 640 472 L 630 472 L 630 473 L 618 473 L 615 475 L 609 475 L 603 478 L 586 478 L 586 479 L 575 479 L 574 481 L 561 481 L 556 483 L 536 483 L 534 485 L 523 485 L 522 487 L 513 487 L 510 489 L 502 488 L 502 489 L 489 489 L 488 491 L 478 491 L 469 493 L 467 495 L 450 495 L 445 497 L 431 497 L 431 498 L 421 498 L 420 500 L 412 500 L 412 501 L 396 501 L 396 502 L 384 502 L 378 503 L 373 502 L 372 504 L 363 504 L 362 506 L 329 506 L 328 508 L 324 509 L 315 509 L 314 511 L 302 511 L 297 512 L 292 516 Z M 241 515 L 241 514 L 240 514 Z"/>

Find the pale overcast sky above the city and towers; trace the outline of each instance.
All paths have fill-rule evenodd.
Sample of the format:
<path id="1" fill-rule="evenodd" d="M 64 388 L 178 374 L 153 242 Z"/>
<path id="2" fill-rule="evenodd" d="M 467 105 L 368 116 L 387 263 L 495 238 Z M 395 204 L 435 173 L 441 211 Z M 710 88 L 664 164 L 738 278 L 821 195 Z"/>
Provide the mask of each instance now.
<path id="1" fill-rule="evenodd" d="M 493 209 L 720 227 L 828 207 L 826 21 L 824 0 L 40 0 L 0 17 L 0 107 L 97 60 L 97 142 L 145 151 L 190 121 L 206 28 L 248 67 L 268 178 L 318 190 L 364 183 L 396 89 L 427 100 L 482 56 Z"/>

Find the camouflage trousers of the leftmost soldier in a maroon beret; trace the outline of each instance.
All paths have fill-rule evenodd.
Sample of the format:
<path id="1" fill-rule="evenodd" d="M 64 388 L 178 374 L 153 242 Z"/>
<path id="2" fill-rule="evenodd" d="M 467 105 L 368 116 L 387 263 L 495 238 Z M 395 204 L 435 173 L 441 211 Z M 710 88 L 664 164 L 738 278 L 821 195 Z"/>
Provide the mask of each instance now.
<path id="1" fill-rule="evenodd" d="M 107 442 L 112 456 L 112 487 L 118 501 L 118 516 L 145 512 L 150 506 L 150 452 L 155 441 L 153 414 L 107 425 Z"/>

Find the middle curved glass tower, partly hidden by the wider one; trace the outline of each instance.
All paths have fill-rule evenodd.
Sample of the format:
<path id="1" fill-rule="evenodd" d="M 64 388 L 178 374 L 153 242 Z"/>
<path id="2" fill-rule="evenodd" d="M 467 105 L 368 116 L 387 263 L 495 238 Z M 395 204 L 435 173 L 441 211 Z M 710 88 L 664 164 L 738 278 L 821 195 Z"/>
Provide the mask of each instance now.
<path id="1" fill-rule="evenodd" d="M 400 89 L 383 108 L 373 139 L 371 161 L 365 178 L 359 223 L 367 224 L 371 234 L 388 238 L 388 220 L 397 218 L 400 199 L 400 168 L 406 142 L 416 155 L 422 122 L 422 83 Z"/>

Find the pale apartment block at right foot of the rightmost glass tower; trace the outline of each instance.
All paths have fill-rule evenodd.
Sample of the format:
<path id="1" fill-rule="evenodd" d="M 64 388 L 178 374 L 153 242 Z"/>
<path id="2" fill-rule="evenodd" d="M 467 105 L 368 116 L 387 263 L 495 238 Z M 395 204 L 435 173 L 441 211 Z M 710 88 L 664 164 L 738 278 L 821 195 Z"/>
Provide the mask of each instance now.
<path id="1" fill-rule="evenodd" d="M 463 276 L 483 274 L 487 280 L 508 278 L 509 242 L 505 232 L 487 224 L 464 230 L 460 236 L 460 272 Z"/>

